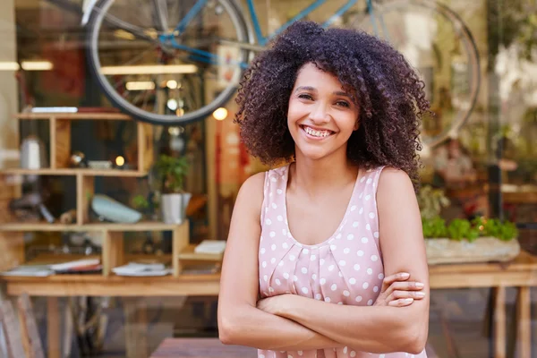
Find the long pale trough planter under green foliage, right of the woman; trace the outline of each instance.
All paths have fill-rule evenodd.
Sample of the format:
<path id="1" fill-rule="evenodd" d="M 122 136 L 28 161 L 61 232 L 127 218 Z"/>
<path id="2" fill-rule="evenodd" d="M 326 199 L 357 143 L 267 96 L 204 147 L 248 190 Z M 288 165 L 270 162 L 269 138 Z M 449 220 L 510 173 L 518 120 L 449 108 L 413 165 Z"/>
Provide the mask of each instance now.
<path id="1" fill-rule="evenodd" d="M 467 240 L 426 238 L 427 262 L 431 265 L 445 263 L 505 262 L 520 253 L 518 240 L 502 241 L 495 237 L 479 237 L 473 243 Z"/>

